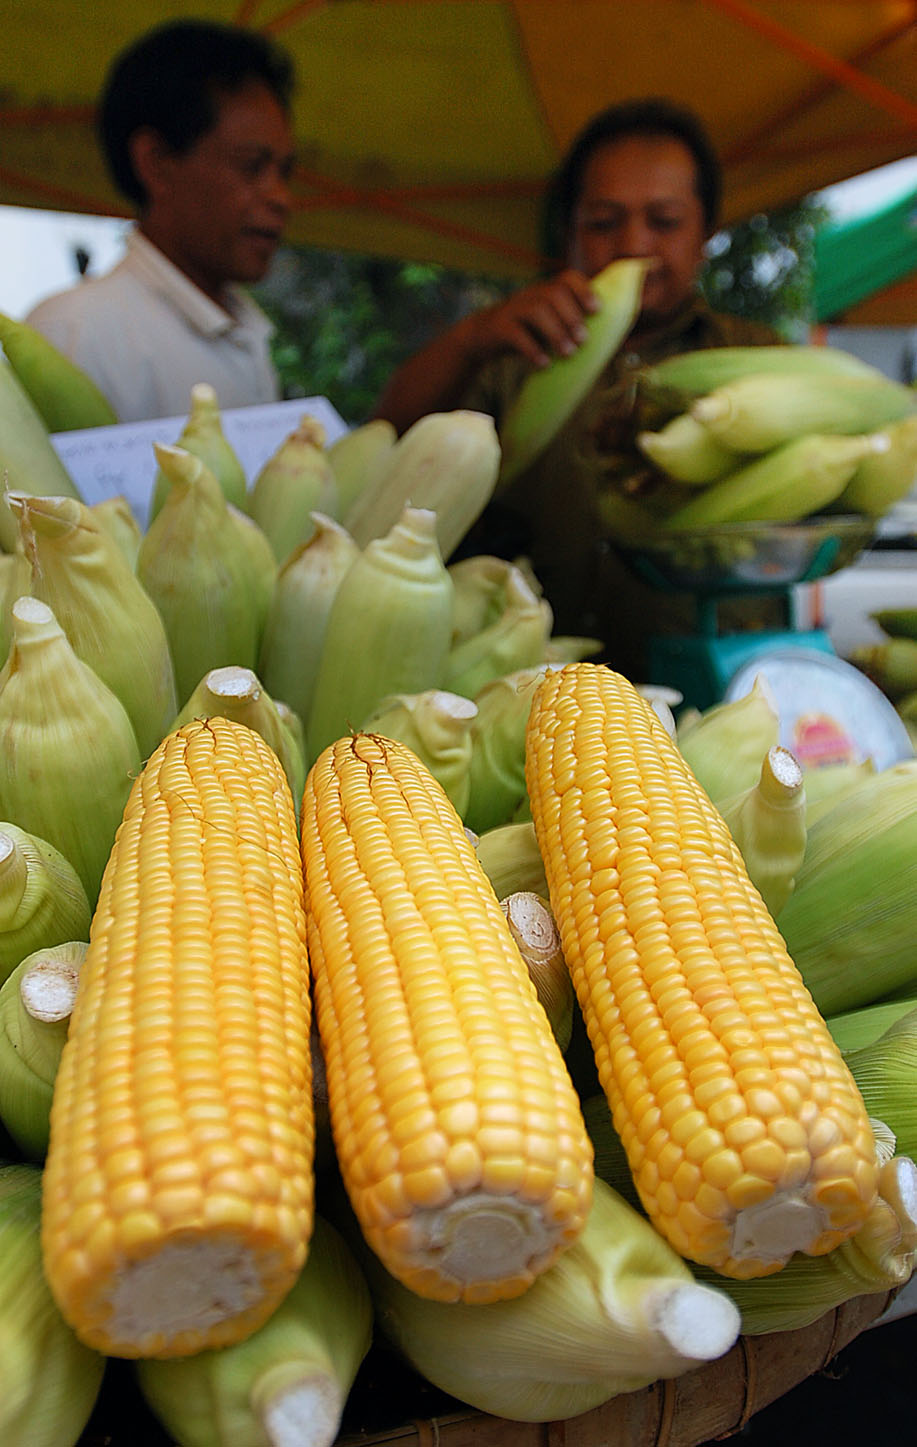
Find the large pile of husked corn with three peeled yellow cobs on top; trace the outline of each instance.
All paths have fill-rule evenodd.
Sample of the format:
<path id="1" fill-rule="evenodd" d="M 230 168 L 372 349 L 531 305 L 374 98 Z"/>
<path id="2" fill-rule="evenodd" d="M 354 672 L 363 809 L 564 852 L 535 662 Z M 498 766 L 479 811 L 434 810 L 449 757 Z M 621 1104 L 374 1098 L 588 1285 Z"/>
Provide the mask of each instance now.
<path id="1" fill-rule="evenodd" d="M 74 1447 L 120 1357 L 179 1447 L 330 1447 L 375 1333 L 555 1421 L 908 1279 L 917 764 L 806 776 L 761 689 L 675 722 L 522 561 L 445 561 L 477 414 L 304 420 L 249 483 L 195 388 L 143 531 L 32 428 L 4 1444 Z"/>

